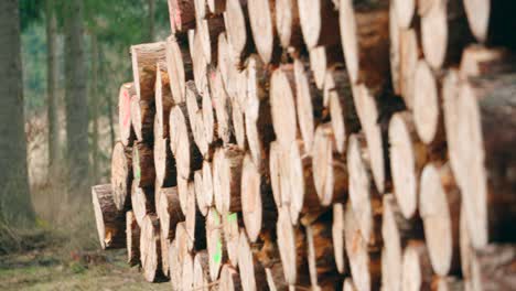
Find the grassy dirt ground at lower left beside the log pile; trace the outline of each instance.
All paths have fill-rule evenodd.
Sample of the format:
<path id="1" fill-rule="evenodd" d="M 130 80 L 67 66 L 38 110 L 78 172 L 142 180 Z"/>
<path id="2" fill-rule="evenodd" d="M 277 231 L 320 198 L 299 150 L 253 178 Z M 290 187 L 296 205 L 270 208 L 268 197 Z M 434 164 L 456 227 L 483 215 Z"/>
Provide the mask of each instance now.
<path id="1" fill-rule="evenodd" d="M 60 254 L 44 248 L 0 256 L 0 290 L 170 290 L 148 283 L 123 250 Z"/>

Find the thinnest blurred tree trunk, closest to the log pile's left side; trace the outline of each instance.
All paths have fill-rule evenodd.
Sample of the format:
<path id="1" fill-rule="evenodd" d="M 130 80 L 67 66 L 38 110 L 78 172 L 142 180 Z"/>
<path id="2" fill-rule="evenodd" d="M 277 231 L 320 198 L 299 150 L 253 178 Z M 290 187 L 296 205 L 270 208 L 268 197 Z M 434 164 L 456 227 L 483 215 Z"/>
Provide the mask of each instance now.
<path id="1" fill-rule="evenodd" d="M 93 159 L 93 180 L 95 182 L 99 179 L 99 146 L 98 146 L 98 117 L 99 117 L 99 98 L 98 98 L 98 42 L 95 32 L 92 33 L 92 159 Z"/>

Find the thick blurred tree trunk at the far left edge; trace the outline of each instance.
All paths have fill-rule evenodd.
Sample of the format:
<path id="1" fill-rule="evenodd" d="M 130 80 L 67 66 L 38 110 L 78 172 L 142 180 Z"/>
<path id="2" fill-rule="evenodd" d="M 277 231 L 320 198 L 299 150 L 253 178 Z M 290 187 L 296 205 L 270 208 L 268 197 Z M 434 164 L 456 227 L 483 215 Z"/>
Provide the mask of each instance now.
<path id="1" fill-rule="evenodd" d="M 26 139 L 18 0 L 0 1 L 0 219 L 34 222 L 26 169 Z"/>

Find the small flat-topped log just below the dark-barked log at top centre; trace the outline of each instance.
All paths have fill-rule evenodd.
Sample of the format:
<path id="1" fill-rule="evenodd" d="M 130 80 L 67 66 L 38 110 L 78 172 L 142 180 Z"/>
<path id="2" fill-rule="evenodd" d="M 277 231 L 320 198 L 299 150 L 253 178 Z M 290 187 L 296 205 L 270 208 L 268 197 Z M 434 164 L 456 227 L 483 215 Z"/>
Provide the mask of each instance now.
<path id="1" fill-rule="evenodd" d="M 310 69 L 318 89 L 324 88 L 326 71 L 344 64 L 341 45 L 315 46 L 310 50 Z"/>

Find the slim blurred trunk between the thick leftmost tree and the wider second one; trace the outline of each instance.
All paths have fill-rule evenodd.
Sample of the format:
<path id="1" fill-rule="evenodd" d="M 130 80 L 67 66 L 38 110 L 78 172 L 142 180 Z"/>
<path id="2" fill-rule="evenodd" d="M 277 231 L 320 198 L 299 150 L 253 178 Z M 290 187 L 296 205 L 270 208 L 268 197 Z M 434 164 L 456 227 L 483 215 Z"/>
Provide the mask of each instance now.
<path id="1" fill-rule="evenodd" d="M 57 115 L 57 21 L 54 11 L 55 1 L 46 0 L 46 94 L 49 122 L 49 177 L 55 177 L 61 161 L 60 121 Z"/>

